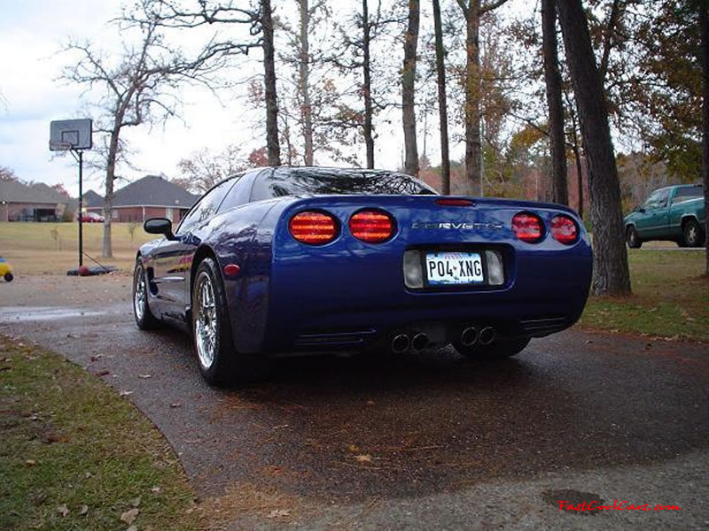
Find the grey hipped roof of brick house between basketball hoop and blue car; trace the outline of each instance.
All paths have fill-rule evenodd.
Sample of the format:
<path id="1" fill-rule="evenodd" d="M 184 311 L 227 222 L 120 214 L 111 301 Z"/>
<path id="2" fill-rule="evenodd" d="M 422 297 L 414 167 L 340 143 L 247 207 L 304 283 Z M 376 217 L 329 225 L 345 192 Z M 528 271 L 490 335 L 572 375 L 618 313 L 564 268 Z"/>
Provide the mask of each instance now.
<path id="1" fill-rule="evenodd" d="M 199 199 L 176 184 L 160 177 L 146 175 L 143 179 L 131 182 L 129 185 L 113 194 L 113 206 L 166 206 L 190 208 Z"/>

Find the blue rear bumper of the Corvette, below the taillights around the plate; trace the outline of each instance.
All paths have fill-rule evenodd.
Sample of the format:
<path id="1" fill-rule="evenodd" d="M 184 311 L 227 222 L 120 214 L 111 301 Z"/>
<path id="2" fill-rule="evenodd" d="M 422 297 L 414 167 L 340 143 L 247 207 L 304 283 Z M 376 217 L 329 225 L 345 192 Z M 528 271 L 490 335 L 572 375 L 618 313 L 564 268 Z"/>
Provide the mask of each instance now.
<path id="1" fill-rule="evenodd" d="M 271 277 L 268 352 L 364 348 L 401 330 L 492 326 L 506 336 L 541 337 L 570 327 L 586 304 L 590 250 L 510 252 L 499 289 L 413 290 L 398 255 L 280 264 Z"/>

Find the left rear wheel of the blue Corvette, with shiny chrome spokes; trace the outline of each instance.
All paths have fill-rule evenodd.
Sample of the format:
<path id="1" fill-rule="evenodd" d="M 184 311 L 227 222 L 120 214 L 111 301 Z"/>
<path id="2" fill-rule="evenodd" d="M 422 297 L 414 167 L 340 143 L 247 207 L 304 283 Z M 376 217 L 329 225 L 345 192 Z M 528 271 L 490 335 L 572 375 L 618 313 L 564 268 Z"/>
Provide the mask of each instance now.
<path id="1" fill-rule="evenodd" d="M 269 373 L 269 358 L 241 354 L 234 348 L 222 275 L 212 258 L 202 260 L 195 274 L 192 333 L 199 372 L 209 385 L 257 381 Z"/>

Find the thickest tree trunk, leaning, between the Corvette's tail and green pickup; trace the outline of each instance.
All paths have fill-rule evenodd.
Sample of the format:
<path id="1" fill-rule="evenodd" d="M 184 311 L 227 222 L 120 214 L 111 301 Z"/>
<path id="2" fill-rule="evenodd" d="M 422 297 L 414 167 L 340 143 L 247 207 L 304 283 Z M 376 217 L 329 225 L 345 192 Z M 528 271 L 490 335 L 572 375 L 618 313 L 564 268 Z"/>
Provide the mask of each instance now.
<path id="1" fill-rule="evenodd" d="M 596 295 L 628 295 L 630 274 L 623 234 L 618 169 L 603 85 L 588 35 L 588 21 L 581 0 L 558 2 L 557 12 L 588 157 L 588 189 L 591 195 L 594 242 L 593 292 Z"/>

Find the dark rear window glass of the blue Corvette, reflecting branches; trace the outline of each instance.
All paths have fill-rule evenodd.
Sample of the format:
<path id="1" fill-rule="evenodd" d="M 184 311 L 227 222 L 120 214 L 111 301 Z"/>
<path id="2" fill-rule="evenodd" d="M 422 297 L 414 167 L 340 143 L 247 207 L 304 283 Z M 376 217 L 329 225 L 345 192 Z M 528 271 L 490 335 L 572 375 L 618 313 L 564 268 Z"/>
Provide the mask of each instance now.
<path id="1" fill-rule="evenodd" d="M 281 196 L 437 195 L 435 189 L 403 173 L 315 168 L 277 169 L 253 184 L 252 201 Z"/>

